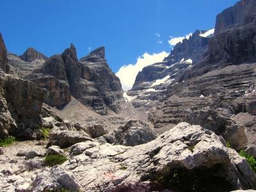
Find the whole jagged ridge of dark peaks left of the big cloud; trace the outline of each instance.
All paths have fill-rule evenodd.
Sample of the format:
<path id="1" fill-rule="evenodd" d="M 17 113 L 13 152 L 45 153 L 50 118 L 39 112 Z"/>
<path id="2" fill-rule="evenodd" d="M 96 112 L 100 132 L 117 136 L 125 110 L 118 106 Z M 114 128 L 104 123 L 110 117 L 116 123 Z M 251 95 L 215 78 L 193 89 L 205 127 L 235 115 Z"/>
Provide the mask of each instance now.
<path id="1" fill-rule="evenodd" d="M 29 48 L 20 58 L 9 54 L 8 63 L 12 74 L 47 90 L 44 102 L 49 106 L 61 109 L 75 97 L 101 115 L 109 109 L 120 112 L 122 86 L 106 62 L 104 47 L 81 60 L 72 44 L 50 58 Z"/>

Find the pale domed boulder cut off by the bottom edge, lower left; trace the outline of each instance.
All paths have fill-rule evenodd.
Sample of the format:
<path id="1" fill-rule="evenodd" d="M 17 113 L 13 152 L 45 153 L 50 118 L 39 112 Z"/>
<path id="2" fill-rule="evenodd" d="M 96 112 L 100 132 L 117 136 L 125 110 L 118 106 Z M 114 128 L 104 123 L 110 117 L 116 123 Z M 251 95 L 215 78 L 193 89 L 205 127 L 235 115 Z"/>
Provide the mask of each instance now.
<path id="1" fill-rule="evenodd" d="M 61 166 L 46 168 L 36 175 L 31 191 L 58 191 L 67 189 L 70 191 L 80 191 L 81 184 L 76 176 Z"/>

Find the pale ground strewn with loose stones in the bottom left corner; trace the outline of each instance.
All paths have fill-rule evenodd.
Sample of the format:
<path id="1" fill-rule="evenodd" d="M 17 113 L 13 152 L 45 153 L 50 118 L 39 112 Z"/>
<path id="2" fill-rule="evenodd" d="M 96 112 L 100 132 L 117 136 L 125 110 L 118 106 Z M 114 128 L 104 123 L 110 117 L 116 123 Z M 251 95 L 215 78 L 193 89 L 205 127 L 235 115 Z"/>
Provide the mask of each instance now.
<path id="1" fill-rule="evenodd" d="M 40 164 L 43 159 L 36 157 L 26 160 L 26 154 L 34 151 L 44 156 L 45 147 L 45 141 L 17 141 L 4 147 L 3 154 L 0 155 L 0 191 L 26 191 L 40 172 L 40 169 L 31 168 L 30 164 Z"/>

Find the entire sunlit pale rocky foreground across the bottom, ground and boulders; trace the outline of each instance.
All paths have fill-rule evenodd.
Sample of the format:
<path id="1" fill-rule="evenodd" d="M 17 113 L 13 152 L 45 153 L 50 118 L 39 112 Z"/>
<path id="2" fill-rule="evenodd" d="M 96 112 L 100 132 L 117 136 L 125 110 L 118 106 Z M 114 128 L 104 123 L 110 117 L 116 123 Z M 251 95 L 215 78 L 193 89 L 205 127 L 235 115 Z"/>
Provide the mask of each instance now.
<path id="1" fill-rule="evenodd" d="M 63 140 L 65 132 L 70 136 L 64 140 L 71 145 L 65 150 L 54 145 L 46 150 L 46 143 L 35 145 L 33 141 L 3 149 L 0 191 L 58 191 L 61 188 L 70 191 L 232 191 L 256 188 L 256 175 L 246 159 L 226 147 L 221 136 L 199 125 L 180 123 L 156 139 L 134 147 L 92 138 L 79 142 L 76 131 L 67 127 L 58 130 L 61 129 L 63 131 L 58 133 L 52 129 L 50 144 L 52 140 Z M 66 154 L 68 159 L 61 165 L 47 167 L 45 152 Z"/>

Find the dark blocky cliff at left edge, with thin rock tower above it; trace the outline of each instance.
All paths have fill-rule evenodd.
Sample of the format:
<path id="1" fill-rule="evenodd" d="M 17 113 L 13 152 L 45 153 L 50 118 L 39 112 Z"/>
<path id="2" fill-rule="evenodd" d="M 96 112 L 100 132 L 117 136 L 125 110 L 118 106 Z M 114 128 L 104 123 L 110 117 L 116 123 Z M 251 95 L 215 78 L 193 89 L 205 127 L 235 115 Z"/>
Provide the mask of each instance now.
<path id="1" fill-rule="evenodd" d="M 6 71 L 7 51 L 3 39 L 0 51 L 1 68 Z M 34 83 L 7 76 L 0 69 L 0 138 L 10 134 L 19 138 L 38 138 L 40 132 L 33 129 L 42 124 L 40 113 L 44 95 L 44 90 Z"/>

